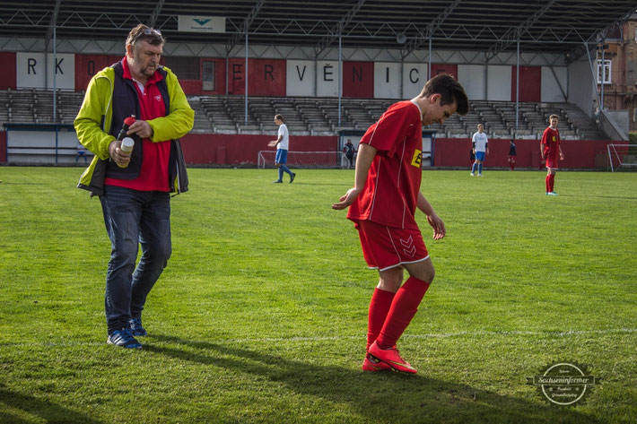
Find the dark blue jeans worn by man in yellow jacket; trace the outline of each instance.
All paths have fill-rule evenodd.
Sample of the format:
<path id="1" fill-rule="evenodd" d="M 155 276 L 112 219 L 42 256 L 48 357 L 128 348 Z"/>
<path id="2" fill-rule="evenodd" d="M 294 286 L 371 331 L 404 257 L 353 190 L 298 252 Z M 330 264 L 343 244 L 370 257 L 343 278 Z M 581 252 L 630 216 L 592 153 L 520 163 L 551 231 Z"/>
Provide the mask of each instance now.
<path id="1" fill-rule="evenodd" d="M 112 333 L 142 315 L 146 296 L 168 263 L 170 194 L 106 186 L 100 202 L 111 245 L 105 305 Z M 142 257 L 135 268 L 138 245 Z"/>

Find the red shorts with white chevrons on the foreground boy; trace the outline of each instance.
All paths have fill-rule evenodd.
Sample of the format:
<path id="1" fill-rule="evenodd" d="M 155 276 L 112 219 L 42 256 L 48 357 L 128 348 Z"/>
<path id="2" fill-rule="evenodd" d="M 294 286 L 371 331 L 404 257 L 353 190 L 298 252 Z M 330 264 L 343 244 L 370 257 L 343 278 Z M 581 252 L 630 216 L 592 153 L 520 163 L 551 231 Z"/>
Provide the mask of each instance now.
<path id="1" fill-rule="evenodd" d="M 361 238 L 362 255 L 370 268 L 385 271 L 429 257 L 420 229 L 397 229 L 371 221 L 355 224 Z"/>

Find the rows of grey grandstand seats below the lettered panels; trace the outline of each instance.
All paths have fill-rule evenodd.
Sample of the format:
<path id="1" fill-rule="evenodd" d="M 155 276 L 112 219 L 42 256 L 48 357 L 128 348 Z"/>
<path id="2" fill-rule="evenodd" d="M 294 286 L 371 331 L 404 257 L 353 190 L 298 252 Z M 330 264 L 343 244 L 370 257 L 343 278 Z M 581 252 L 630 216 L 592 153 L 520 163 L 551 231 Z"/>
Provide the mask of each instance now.
<path id="1" fill-rule="evenodd" d="M 83 92 L 58 91 L 56 115 L 53 117 L 53 92 L 39 90 L 0 91 L 0 124 L 72 124 L 83 100 Z M 334 98 L 249 98 L 246 123 L 245 100 L 241 96 L 190 97 L 195 109 L 195 133 L 215 134 L 275 134 L 274 116 L 285 117 L 291 134 L 333 135 L 339 129 L 365 130 L 396 100 L 341 100 L 341 121 L 338 120 L 338 99 Z M 454 115 L 444 125 L 434 124 L 439 137 L 466 138 L 476 131 L 478 123 L 492 138 L 538 139 L 548 117 L 560 115 L 563 139 L 606 139 L 595 121 L 580 108 L 569 103 L 520 103 L 516 130 L 515 102 L 471 101 L 467 116 Z"/>

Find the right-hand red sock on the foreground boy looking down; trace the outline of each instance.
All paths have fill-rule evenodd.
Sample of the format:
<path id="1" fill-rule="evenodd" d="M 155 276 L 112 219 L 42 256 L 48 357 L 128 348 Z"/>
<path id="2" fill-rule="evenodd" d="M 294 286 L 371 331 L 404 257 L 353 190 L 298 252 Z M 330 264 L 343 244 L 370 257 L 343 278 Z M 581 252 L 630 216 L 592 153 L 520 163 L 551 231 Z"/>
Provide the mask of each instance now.
<path id="1" fill-rule="evenodd" d="M 376 339 L 380 349 L 390 349 L 396 344 L 414 318 L 427 289 L 429 289 L 428 282 L 409 277 L 403 287 L 397 291 L 394 301 L 391 302 L 385 324 L 380 330 L 379 338 Z"/>

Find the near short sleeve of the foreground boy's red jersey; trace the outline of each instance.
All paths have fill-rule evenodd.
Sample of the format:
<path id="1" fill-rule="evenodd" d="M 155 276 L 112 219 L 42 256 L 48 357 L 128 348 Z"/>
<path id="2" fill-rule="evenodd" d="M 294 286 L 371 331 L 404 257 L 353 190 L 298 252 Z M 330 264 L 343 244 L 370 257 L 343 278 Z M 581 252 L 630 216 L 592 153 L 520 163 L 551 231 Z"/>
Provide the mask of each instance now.
<path id="1" fill-rule="evenodd" d="M 361 143 L 387 152 L 388 157 L 394 156 L 398 144 L 403 140 L 408 130 L 410 112 L 413 111 L 409 105 L 388 108 L 379 121 L 371 125 L 367 133 L 362 136 Z M 418 112 L 416 111 L 416 113 Z"/>

